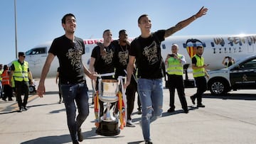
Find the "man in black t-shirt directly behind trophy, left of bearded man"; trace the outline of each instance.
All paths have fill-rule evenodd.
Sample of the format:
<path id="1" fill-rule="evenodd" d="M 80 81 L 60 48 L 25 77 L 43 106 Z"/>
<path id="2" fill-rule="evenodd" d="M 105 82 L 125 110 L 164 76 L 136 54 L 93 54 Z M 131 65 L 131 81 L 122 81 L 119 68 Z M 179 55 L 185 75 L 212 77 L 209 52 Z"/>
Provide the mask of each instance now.
<path id="1" fill-rule="evenodd" d="M 92 55 L 90 58 L 90 72 L 97 72 L 97 74 L 107 74 L 114 73 L 114 56 L 115 48 L 111 43 L 112 32 L 110 30 L 105 30 L 103 32 L 103 45 L 96 46 L 92 50 Z M 114 74 L 106 77 L 101 77 L 102 79 L 114 79 Z M 95 89 L 98 90 L 98 82 L 96 82 Z M 100 116 L 103 116 L 103 102 L 100 102 Z"/>

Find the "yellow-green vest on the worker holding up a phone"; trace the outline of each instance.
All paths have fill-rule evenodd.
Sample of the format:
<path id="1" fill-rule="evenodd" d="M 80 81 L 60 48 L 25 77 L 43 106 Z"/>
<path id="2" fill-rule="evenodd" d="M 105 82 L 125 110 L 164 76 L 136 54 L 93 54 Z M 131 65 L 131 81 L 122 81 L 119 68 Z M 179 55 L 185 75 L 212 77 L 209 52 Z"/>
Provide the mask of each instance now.
<path id="1" fill-rule="evenodd" d="M 180 55 L 180 54 L 178 54 L 177 56 L 178 58 L 183 57 L 183 55 Z M 176 74 L 176 75 L 183 74 L 183 65 L 179 60 L 177 60 L 174 57 L 169 57 L 167 62 L 168 62 L 168 67 L 167 67 L 168 74 Z"/>

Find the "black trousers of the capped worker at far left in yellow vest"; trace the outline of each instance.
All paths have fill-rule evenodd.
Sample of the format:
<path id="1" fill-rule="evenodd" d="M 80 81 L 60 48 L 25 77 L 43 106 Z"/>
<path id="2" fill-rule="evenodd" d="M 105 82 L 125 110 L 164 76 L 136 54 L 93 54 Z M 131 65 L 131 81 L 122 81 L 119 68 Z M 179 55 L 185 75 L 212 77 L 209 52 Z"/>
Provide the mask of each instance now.
<path id="1" fill-rule="evenodd" d="M 21 106 L 26 106 L 28 103 L 28 82 L 19 82 L 15 81 L 15 88 L 16 88 L 16 98 L 18 101 L 18 107 L 21 108 Z M 24 99 L 22 101 L 21 95 L 24 94 Z"/>

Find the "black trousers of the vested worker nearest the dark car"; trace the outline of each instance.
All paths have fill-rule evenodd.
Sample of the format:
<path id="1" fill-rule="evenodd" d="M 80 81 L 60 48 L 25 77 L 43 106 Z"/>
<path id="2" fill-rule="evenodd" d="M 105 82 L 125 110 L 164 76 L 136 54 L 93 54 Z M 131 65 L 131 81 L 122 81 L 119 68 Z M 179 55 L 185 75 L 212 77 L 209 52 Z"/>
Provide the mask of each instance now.
<path id="1" fill-rule="evenodd" d="M 207 85 L 206 85 L 206 77 L 195 77 L 196 80 L 196 94 L 192 97 L 197 99 L 197 104 L 202 104 L 202 95 L 206 92 Z"/>

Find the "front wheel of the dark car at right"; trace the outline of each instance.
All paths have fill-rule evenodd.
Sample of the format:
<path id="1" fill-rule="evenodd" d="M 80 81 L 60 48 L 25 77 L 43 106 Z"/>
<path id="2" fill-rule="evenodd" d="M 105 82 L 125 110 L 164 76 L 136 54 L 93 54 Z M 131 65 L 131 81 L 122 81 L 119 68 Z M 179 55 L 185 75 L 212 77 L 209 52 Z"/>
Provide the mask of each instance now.
<path id="1" fill-rule="evenodd" d="M 208 86 L 213 95 L 227 94 L 229 89 L 227 82 L 223 79 L 213 79 Z"/>

